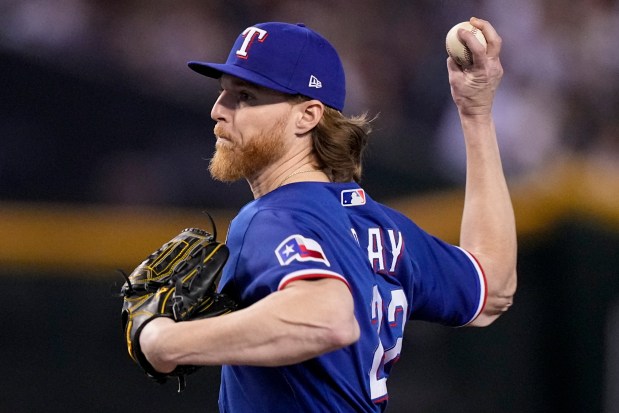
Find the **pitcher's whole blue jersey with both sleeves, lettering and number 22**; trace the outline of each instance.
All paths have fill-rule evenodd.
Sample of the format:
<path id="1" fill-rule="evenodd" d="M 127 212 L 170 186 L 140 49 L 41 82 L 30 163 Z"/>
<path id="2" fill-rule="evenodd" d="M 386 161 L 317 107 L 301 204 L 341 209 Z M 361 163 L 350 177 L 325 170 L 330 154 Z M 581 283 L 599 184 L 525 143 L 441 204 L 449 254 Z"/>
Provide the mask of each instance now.
<path id="1" fill-rule="evenodd" d="M 220 289 L 247 307 L 295 280 L 334 278 L 353 295 L 359 340 L 283 367 L 223 366 L 222 412 L 379 412 L 409 319 L 461 326 L 485 301 L 481 268 L 355 183 L 300 182 L 232 221 Z"/>

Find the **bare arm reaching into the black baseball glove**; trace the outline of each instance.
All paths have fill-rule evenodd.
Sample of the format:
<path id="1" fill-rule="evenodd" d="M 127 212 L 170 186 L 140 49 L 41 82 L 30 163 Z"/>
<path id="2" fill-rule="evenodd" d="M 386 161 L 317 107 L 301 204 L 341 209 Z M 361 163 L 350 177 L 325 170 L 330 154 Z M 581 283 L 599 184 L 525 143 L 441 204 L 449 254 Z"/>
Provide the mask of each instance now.
<path id="1" fill-rule="evenodd" d="M 347 290 L 342 282 L 335 283 L 335 288 Z M 318 285 L 307 287 L 311 290 Z M 352 297 L 348 302 L 344 295 L 342 302 L 342 291 L 323 291 L 310 302 L 301 298 L 307 298 L 307 291 L 294 288 L 287 287 L 251 307 L 221 317 L 161 323 L 147 332 L 153 335 L 141 341 L 142 348 L 159 370 L 182 364 L 293 364 L 356 341 L 358 326 Z M 348 291 L 345 294 L 350 296 Z M 340 318 L 336 313 L 347 316 Z"/>

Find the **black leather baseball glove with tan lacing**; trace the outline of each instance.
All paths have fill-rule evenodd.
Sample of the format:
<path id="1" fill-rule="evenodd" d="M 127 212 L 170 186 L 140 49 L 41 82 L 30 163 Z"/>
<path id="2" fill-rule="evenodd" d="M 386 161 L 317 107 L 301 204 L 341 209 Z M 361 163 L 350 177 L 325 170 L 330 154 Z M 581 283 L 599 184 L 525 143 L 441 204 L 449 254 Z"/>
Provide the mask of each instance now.
<path id="1" fill-rule="evenodd" d="M 188 228 L 149 255 L 129 276 L 123 273 L 122 327 L 129 355 L 160 383 L 177 377 L 179 392 L 185 387 L 185 375 L 198 367 L 178 366 L 165 374 L 156 371 L 140 349 L 140 333 L 158 317 L 187 321 L 234 311 L 236 303 L 217 293 L 228 256 L 228 247 L 213 235 Z"/>

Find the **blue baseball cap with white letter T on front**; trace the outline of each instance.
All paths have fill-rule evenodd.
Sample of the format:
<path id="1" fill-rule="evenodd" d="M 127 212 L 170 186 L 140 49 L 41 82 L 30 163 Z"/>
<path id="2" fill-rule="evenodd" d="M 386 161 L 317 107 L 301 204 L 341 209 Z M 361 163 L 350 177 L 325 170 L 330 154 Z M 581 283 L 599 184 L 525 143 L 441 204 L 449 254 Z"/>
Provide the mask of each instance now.
<path id="1" fill-rule="evenodd" d="M 301 94 L 342 111 L 346 78 L 335 48 L 304 24 L 260 23 L 236 39 L 226 63 L 191 61 L 196 72 L 238 77 L 278 92 Z"/>

